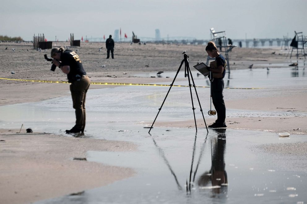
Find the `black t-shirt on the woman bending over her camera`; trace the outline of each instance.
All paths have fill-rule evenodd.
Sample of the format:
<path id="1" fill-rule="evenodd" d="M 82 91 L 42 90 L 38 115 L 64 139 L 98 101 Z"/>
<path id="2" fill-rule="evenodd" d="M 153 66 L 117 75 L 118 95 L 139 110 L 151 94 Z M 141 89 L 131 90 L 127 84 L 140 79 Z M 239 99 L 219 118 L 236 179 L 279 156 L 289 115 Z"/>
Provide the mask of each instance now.
<path id="1" fill-rule="evenodd" d="M 70 67 L 70 71 L 67 74 L 67 78 L 70 81 L 74 81 L 77 74 L 80 76 L 86 74 L 79 56 L 72 50 L 65 50 L 61 54 L 61 65 Z"/>

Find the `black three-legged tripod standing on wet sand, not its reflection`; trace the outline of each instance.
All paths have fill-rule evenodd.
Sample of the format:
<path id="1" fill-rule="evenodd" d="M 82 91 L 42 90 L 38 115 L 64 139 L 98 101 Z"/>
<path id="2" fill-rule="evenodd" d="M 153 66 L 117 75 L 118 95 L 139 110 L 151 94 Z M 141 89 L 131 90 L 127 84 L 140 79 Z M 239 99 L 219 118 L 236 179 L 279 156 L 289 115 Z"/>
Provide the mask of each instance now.
<path id="1" fill-rule="evenodd" d="M 195 93 L 196 93 L 196 96 L 197 96 L 197 100 L 198 100 L 198 104 L 199 104 L 199 107 L 200 107 L 200 110 L 201 110 L 201 114 L 202 114 L 202 117 L 203 117 L 203 119 L 204 119 L 204 122 L 205 122 L 205 126 L 206 126 L 206 129 L 207 129 L 207 132 L 209 132 L 209 131 L 208 131 L 208 128 L 207 128 L 206 121 L 205 121 L 204 114 L 203 114 L 202 109 L 201 109 L 201 103 L 199 102 L 199 98 L 198 98 L 198 94 L 197 94 L 196 87 L 195 87 L 195 84 L 194 84 L 194 80 L 193 80 L 193 77 L 192 77 L 192 73 L 191 73 L 191 69 L 190 69 L 190 65 L 189 65 L 189 60 L 188 60 L 189 56 L 188 56 L 188 54 L 185 53 L 185 52 L 186 52 L 186 51 L 184 51 L 184 52 L 182 53 L 182 54 L 184 54 L 184 59 L 181 61 L 181 64 L 180 64 L 180 66 L 179 66 L 179 68 L 178 68 L 178 70 L 177 70 L 177 73 L 176 73 L 176 75 L 175 75 L 175 78 L 174 78 L 173 82 L 171 83 L 171 87 L 170 87 L 170 89 L 168 90 L 168 92 L 167 92 L 167 94 L 166 94 L 166 96 L 165 96 L 165 98 L 164 98 L 164 101 L 162 102 L 161 107 L 159 108 L 158 114 L 160 113 L 160 110 L 162 109 L 162 106 L 163 106 L 163 104 L 164 104 L 164 102 L 165 102 L 165 100 L 166 100 L 166 97 L 167 97 L 168 93 L 170 93 L 170 90 L 171 90 L 171 88 L 172 88 L 172 86 L 173 86 L 173 84 L 174 84 L 174 81 L 175 81 L 175 79 L 176 79 L 176 77 L 177 77 L 177 75 L 178 75 L 178 73 L 179 73 L 179 71 L 180 71 L 180 69 L 181 69 L 181 66 L 182 66 L 183 63 L 184 63 L 184 77 L 186 77 L 186 76 L 188 75 L 189 87 L 190 87 L 190 93 L 191 93 L 191 101 L 192 101 L 192 109 L 193 109 L 193 114 L 194 114 L 194 121 L 195 121 L 196 132 L 197 132 L 197 125 L 196 125 L 196 118 L 195 118 L 195 111 L 194 111 L 195 108 L 194 108 L 194 103 L 193 103 L 192 88 L 191 88 L 191 86 L 193 86 L 194 89 L 195 89 Z M 191 85 L 191 82 L 190 82 L 190 75 L 191 75 L 191 79 L 192 79 L 193 85 Z M 156 118 L 154 119 L 154 122 L 156 121 L 156 119 L 157 119 L 157 117 L 158 117 L 158 114 L 157 114 Z M 151 128 L 153 128 L 154 122 L 153 122 L 153 124 L 151 125 L 151 127 L 150 127 L 148 133 L 150 133 Z"/>

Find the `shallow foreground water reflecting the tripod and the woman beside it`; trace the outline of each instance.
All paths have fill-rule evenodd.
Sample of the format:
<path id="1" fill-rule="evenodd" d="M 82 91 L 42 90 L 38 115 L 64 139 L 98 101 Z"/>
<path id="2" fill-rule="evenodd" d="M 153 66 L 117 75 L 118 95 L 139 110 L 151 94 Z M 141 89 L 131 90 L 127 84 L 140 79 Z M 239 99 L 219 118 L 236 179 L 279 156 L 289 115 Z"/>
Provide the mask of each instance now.
<path id="1" fill-rule="evenodd" d="M 139 133 L 137 152 L 88 152 L 87 160 L 131 167 L 137 175 L 113 184 L 38 203 L 297 203 L 307 200 L 307 174 L 269 162 L 263 145 L 306 141 L 291 135 L 231 129 L 153 129 Z M 142 135 L 144 134 L 144 135 Z M 135 139 L 135 138 L 134 138 Z M 285 152 L 286 154 L 287 152 Z M 286 168 L 280 168 L 279 164 Z M 283 170 L 283 169 L 290 170 Z"/>

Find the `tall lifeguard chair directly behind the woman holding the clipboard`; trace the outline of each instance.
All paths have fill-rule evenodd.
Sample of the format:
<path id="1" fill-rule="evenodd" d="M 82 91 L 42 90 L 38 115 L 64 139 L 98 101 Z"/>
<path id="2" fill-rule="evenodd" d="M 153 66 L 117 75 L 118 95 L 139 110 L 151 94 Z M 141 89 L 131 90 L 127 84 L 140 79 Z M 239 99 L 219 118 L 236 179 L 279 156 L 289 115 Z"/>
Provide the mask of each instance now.
<path id="1" fill-rule="evenodd" d="M 216 32 L 214 28 L 210 28 L 211 32 L 211 41 L 213 41 L 216 45 L 216 47 L 219 49 L 219 52 L 223 53 L 223 56 L 225 57 L 226 63 L 227 63 L 227 70 L 226 72 L 230 73 L 230 65 L 229 65 L 229 55 L 228 52 L 232 50 L 232 48 L 236 47 L 236 45 L 228 45 L 227 44 L 227 38 L 226 38 L 226 31 L 219 31 Z M 209 55 L 207 57 L 207 65 L 209 63 L 209 60 L 214 60 L 214 58 L 211 58 Z"/>

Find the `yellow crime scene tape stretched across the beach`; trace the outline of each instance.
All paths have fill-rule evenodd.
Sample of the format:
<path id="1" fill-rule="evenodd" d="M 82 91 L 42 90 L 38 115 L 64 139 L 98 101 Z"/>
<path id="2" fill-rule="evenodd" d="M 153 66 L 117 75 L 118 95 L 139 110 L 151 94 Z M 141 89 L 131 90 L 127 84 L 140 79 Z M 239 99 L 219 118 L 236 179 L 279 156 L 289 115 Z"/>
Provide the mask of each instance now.
<path id="1" fill-rule="evenodd" d="M 56 84 L 70 84 L 68 81 L 46 81 L 46 80 L 33 80 L 33 79 L 8 79 L 1 78 L 4 80 L 13 80 L 13 81 L 28 81 L 28 82 L 39 82 L 39 83 L 56 83 Z M 93 85 L 117 85 L 117 86 L 171 86 L 168 84 L 139 84 L 139 83 L 115 83 L 115 82 L 91 82 Z M 187 85 L 173 85 L 176 87 L 189 87 Z M 195 86 L 199 88 L 210 88 L 210 86 Z M 264 88 L 225 88 L 225 89 L 264 89 Z"/>

